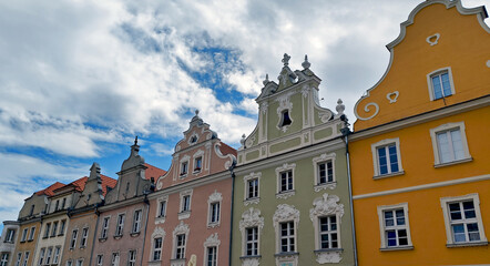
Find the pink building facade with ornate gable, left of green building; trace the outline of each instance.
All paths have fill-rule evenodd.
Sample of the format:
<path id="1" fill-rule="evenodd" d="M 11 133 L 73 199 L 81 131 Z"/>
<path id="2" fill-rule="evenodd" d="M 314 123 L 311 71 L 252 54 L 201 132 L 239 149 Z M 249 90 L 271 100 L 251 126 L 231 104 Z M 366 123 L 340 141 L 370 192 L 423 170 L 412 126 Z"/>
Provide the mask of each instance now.
<path id="1" fill-rule="evenodd" d="M 142 265 L 228 265 L 236 151 L 196 115 L 175 145 L 169 172 L 149 195 Z"/>

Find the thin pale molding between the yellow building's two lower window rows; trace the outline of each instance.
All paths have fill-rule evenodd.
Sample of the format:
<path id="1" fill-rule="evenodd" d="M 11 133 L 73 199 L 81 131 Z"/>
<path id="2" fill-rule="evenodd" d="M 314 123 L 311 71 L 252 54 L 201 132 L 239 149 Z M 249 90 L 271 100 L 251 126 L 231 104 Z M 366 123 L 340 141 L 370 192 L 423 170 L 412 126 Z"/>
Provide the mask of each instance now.
<path id="1" fill-rule="evenodd" d="M 417 185 L 417 186 L 408 186 L 408 187 L 382 191 L 382 192 L 367 193 L 367 194 L 361 194 L 361 195 L 355 195 L 355 196 L 353 196 L 353 200 L 386 196 L 386 195 L 392 195 L 392 194 L 398 194 L 398 193 L 422 191 L 422 190 L 429 190 L 429 188 L 435 188 L 435 187 L 466 184 L 466 183 L 479 182 L 479 181 L 486 181 L 486 180 L 490 180 L 490 174 L 477 175 L 477 176 L 471 176 L 471 177 L 463 177 L 463 178 L 451 180 L 451 181 L 442 181 L 442 182 Z"/>

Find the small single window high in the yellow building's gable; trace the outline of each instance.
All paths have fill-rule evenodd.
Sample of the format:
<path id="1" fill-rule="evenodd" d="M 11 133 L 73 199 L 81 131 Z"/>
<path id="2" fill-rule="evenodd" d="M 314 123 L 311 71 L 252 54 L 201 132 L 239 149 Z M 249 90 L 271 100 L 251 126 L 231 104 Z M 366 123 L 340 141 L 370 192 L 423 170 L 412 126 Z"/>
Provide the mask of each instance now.
<path id="1" fill-rule="evenodd" d="M 451 68 L 436 70 L 427 75 L 429 96 L 431 101 L 455 94 Z"/>

